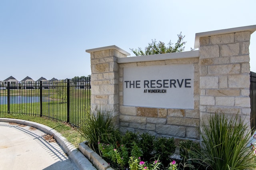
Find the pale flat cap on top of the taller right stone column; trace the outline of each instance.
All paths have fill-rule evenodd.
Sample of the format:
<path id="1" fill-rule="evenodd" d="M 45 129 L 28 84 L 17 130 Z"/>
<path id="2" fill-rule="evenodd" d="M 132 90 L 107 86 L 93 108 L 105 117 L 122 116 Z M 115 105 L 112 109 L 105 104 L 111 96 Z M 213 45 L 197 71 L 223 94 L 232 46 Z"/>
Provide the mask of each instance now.
<path id="1" fill-rule="evenodd" d="M 199 38 L 200 37 L 216 36 L 216 35 L 221 35 L 221 34 L 230 34 L 230 33 L 235 33 L 235 32 L 244 32 L 244 31 L 250 31 L 252 34 L 254 31 L 256 31 L 256 25 L 196 33 L 194 48 L 199 47 Z"/>

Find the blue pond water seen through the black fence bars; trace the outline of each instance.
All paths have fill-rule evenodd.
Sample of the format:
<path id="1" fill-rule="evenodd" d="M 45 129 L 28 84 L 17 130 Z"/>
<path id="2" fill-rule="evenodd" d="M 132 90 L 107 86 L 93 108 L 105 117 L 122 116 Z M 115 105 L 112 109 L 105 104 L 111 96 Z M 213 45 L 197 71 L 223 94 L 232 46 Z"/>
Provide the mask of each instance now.
<path id="1" fill-rule="evenodd" d="M 10 96 L 10 104 L 38 103 L 38 102 L 40 102 L 39 96 Z M 7 96 L 0 96 L 0 105 L 7 105 Z"/>

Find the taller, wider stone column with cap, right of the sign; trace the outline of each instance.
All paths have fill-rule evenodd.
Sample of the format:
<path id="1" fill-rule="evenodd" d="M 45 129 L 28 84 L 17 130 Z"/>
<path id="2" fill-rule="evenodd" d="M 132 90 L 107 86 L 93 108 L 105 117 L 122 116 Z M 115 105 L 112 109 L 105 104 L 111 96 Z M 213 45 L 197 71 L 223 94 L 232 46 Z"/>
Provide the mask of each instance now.
<path id="1" fill-rule="evenodd" d="M 249 45 L 255 30 L 248 26 L 196 34 L 201 121 L 211 113 L 238 113 L 250 125 Z"/>

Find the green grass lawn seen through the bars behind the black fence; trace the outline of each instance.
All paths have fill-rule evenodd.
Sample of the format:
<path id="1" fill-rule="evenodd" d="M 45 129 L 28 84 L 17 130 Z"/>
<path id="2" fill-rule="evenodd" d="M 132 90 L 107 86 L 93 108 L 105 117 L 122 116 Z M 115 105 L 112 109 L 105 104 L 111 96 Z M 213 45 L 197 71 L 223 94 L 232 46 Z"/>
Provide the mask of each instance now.
<path id="1" fill-rule="evenodd" d="M 18 95 L 20 90 L 12 90 L 12 94 Z M 38 89 L 22 90 L 22 94 L 36 94 Z M 67 112 L 67 99 L 59 97 L 56 89 L 44 90 L 46 101 L 42 102 L 42 116 L 48 117 L 50 120 L 69 122 L 79 127 L 82 120 L 86 118 L 85 113 L 90 110 L 90 89 L 72 89 L 69 100 L 69 120 Z M 3 93 L 3 90 L 0 90 Z M 4 91 L 6 92 L 6 91 Z M 1 94 L 0 94 L 1 95 Z M 6 94 L 2 94 L 6 96 Z M 25 95 L 28 96 L 28 95 Z M 36 96 L 36 95 L 34 95 Z M 62 96 L 63 97 L 63 96 Z M 8 105 L 0 103 L 0 113 L 8 113 Z M 28 116 L 40 116 L 40 103 L 18 103 L 10 104 L 10 112 L 12 114 L 22 114 Z"/>

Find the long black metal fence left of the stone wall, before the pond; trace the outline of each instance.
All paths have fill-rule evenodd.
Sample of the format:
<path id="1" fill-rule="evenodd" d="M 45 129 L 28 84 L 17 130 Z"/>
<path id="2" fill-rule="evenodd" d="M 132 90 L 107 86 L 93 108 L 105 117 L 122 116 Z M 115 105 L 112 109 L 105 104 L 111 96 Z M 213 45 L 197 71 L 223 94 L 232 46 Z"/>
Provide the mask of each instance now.
<path id="1" fill-rule="evenodd" d="M 90 111 L 90 77 L 0 82 L 0 113 L 20 113 L 79 127 Z"/>

